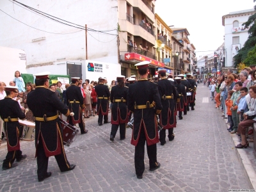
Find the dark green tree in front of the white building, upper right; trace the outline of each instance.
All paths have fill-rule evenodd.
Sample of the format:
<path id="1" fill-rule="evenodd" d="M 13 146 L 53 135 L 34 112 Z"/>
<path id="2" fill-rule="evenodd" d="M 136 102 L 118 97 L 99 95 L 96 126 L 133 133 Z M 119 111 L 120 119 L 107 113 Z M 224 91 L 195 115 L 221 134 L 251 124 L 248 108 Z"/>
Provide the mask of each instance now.
<path id="1" fill-rule="evenodd" d="M 255 2 L 256 0 L 253 0 L 253 2 Z M 254 9 L 256 10 L 256 5 L 254 6 Z M 243 26 L 244 28 L 249 28 L 248 33 L 248 39 L 246 40 L 246 42 L 244 43 L 244 47 L 242 49 L 240 49 L 238 51 L 238 53 L 236 54 L 236 56 L 234 56 L 234 65 L 235 67 L 239 64 L 244 62 L 244 64 L 246 66 L 249 66 L 250 63 L 248 63 L 248 60 L 246 60 L 246 57 L 248 55 L 248 52 L 252 51 L 255 47 L 256 44 L 256 13 L 254 13 L 252 16 L 250 16 L 248 18 L 248 20 L 246 22 L 244 22 Z M 246 60 L 246 62 L 245 62 Z"/>

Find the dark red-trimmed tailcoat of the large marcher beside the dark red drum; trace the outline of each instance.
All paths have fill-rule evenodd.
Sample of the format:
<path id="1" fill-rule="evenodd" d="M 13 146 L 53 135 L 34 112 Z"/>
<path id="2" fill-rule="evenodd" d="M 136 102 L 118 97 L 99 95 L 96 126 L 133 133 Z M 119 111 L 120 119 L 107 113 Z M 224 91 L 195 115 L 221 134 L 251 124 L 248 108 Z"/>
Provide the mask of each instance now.
<path id="1" fill-rule="evenodd" d="M 33 92 L 28 93 L 27 104 L 35 117 L 51 117 L 60 111 L 65 116 L 69 115 L 69 109 L 61 102 L 56 94 L 44 86 L 36 86 Z M 35 145 L 42 138 L 45 156 L 56 156 L 61 154 L 63 147 L 62 128 L 59 118 L 47 122 L 35 121 Z"/>

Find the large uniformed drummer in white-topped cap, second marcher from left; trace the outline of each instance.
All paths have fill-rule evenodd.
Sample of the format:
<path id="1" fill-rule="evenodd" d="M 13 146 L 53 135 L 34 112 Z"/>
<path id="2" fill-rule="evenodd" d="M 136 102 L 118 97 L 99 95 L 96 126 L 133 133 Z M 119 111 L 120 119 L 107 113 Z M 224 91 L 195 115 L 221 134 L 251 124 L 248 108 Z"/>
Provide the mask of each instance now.
<path id="1" fill-rule="evenodd" d="M 36 74 L 36 88 L 28 94 L 27 104 L 35 116 L 35 146 L 38 181 L 51 176 L 47 172 L 48 160 L 54 156 L 61 172 L 73 170 L 76 164 L 69 164 L 63 147 L 63 129 L 58 112 L 68 116 L 70 111 L 49 87 L 47 73 Z M 70 114 L 74 115 L 74 113 Z"/>

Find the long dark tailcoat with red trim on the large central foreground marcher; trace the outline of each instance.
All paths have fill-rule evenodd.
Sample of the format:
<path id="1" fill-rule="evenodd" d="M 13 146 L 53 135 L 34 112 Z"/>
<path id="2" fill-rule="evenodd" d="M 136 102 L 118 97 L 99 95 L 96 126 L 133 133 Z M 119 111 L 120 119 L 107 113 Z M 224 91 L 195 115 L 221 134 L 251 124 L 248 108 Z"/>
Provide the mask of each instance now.
<path id="1" fill-rule="evenodd" d="M 136 106 L 147 105 L 147 103 L 149 105 L 153 102 L 154 108 L 136 109 Z M 137 83 L 131 84 L 127 104 L 128 109 L 134 113 L 131 144 L 135 146 L 138 144 L 141 129 L 145 130 L 147 145 L 158 143 L 156 113 L 161 112 L 162 104 L 157 84 L 149 82 L 148 79 L 140 79 Z"/>

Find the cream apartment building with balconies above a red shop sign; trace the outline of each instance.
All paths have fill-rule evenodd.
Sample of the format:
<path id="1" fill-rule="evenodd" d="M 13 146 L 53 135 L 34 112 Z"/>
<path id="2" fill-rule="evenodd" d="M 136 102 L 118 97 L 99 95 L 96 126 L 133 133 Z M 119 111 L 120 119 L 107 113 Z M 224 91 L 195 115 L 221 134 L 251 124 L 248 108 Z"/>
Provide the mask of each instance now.
<path id="1" fill-rule="evenodd" d="M 120 24 L 120 64 L 122 75 L 137 74 L 134 64 L 150 61 L 150 76 L 156 74 L 164 63 L 157 59 L 156 1 L 118 1 L 118 23 Z"/>

